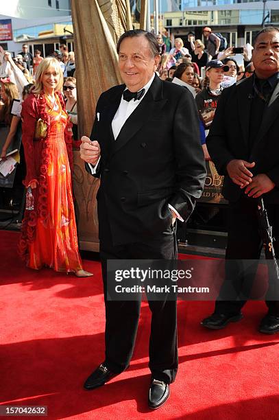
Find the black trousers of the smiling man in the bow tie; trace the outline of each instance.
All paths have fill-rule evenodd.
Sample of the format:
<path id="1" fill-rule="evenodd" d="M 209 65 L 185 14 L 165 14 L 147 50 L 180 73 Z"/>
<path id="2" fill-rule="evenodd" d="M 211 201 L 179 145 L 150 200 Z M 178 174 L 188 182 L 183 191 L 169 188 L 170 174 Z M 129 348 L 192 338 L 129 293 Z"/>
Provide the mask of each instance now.
<path id="1" fill-rule="evenodd" d="M 106 360 L 108 368 L 121 373 L 128 368 L 141 310 L 141 301 L 108 301 L 106 282 L 108 259 L 176 259 L 174 229 L 150 237 L 149 240 L 112 246 L 100 242 L 101 267 L 106 305 Z M 149 338 L 149 369 L 157 380 L 171 383 L 178 370 L 178 339 L 176 301 L 149 301 L 151 334 Z"/>

